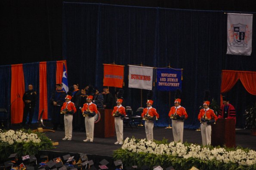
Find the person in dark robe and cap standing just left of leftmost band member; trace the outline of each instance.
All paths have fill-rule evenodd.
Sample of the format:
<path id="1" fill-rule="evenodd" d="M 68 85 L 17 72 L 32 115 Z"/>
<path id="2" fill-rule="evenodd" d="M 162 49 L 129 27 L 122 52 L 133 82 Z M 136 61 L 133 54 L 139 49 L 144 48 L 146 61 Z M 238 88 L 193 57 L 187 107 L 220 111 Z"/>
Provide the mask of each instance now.
<path id="1" fill-rule="evenodd" d="M 60 109 L 65 102 L 66 92 L 62 90 L 62 84 L 56 84 L 56 91 L 52 93 L 50 99 L 52 103 L 52 124 L 53 130 L 57 130 L 58 126 L 63 129 L 64 115 L 60 114 Z"/>

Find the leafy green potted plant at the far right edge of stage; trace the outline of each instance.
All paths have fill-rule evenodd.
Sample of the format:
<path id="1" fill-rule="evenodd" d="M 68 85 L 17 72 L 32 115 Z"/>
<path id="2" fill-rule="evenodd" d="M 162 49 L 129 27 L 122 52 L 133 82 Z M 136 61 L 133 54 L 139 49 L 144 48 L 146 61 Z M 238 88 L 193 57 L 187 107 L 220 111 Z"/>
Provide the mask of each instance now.
<path id="1" fill-rule="evenodd" d="M 256 103 L 248 106 L 244 113 L 245 128 L 252 130 L 252 135 L 256 136 Z"/>

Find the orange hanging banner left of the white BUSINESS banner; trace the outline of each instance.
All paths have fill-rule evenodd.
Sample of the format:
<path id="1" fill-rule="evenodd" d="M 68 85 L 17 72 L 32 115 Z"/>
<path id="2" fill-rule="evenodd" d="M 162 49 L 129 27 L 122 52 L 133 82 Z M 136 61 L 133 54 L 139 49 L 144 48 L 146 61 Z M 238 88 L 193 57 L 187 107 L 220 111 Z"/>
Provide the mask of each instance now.
<path id="1" fill-rule="evenodd" d="M 124 66 L 113 65 L 113 64 L 103 64 L 103 65 L 104 65 L 103 86 L 122 88 Z"/>

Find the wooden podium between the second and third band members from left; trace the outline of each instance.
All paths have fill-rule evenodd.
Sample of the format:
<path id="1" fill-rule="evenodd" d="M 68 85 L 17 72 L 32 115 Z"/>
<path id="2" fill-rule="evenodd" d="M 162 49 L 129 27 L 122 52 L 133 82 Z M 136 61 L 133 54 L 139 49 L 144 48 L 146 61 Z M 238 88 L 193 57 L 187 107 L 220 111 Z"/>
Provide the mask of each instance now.
<path id="1" fill-rule="evenodd" d="M 94 124 L 94 137 L 114 137 L 115 125 L 112 109 L 98 109 L 100 120 Z"/>

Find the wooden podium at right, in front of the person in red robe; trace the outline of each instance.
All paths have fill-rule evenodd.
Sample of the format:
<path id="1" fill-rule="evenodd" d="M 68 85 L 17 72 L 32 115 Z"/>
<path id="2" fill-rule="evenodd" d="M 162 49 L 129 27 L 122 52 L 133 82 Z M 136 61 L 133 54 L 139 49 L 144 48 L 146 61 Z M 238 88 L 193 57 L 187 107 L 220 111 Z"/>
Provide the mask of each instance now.
<path id="1" fill-rule="evenodd" d="M 219 118 L 212 124 L 211 143 L 213 146 L 235 147 L 235 121 L 234 119 Z"/>

